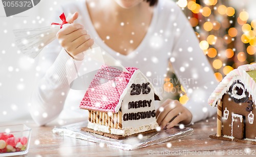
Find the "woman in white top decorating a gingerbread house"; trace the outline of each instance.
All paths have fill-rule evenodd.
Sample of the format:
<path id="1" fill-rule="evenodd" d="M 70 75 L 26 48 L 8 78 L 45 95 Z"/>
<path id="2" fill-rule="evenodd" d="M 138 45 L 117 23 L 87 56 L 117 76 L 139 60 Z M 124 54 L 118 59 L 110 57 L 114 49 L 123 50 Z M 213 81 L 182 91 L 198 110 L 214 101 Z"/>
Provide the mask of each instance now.
<path id="1" fill-rule="evenodd" d="M 55 41 L 45 50 L 45 57 L 42 57 L 45 60 L 40 63 L 45 68 L 41 73 L 44 77 L 35 89 L 31 107 L 31 115 L 39 125 L 55 119 L 64 104 L 73 101 L 72 105 L 79 105 L 84 93 L 69 93 L 65 63 L 71 57 L 81 60 L 78 54 L 94 42 L 123 66 L 139 68 L 162 93 L 168 63 L 172 62 L 179 81 L 186 88 L 189 101 L 185 105 L 170 99 L 163 102 L 157 111 L 157 122 L 162 128 L 178 123 L 191 124 L 216 113 L 216 109 L 207 105 L 206 101 L 216 85 L 214 72 L 199 48 L 193 29 L 174 2 L 72 2 L 62 6 L 54 22 L 59 20 L 57 15 L 61 12 L 74 14 L 67 19 L 71 25 L 57 33 L 63 49 L 60 51 Z M 69 98 L 70 95 L 73 98 Z"/>

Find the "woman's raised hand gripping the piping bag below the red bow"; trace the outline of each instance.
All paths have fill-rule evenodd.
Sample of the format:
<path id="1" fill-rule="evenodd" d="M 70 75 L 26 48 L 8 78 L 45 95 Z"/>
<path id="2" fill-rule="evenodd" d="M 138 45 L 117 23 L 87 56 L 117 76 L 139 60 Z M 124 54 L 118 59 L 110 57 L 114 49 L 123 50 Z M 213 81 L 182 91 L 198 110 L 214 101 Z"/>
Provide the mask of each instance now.
<path id="1" fill-rule="evenodd" d="M 74 20 L 78 18 L 78 13 L 67 18 L 67 22 L 70 24 L 60 29 L 57 33 L 57 39 L 60 45 L 69 53 L 69 55 L 76 59 L 76 55 L 89 49 L 94 40 L 91 39 L 87 31 L 83 29 L 80 24 L 73 24 Z"/>

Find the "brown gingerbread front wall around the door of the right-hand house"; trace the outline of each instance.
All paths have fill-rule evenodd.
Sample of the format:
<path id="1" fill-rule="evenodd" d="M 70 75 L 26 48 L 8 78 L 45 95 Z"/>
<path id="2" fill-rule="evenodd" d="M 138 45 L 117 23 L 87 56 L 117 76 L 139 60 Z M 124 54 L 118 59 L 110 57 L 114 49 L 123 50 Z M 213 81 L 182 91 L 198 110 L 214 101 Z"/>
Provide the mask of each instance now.
<path id="1" fill-rule="evenodd" d="M 245 126 L 244 126 L 244 138 L 248 138 L 248 139 L 254 139 L 256 138 L 256 105 L 255 103 L 253 103 L 252 107 L 252 114 L 254 114 L 254 121 L 253 124 L 249 124 L 249 120 L 248 120 L 248 114 L 250 114 L 250 111 L 246 111 L 246 107 L 248 106 L 249 103 L 245 102 L 245 103 L 236 103 L 234 102 L 232 99 L 229 101 L 228 100 L 229 95 L 228 94 L 224 94 L 224 96 L 222 97 L 222 135 L 227 135 L 227 136 L 231 136 L 231 122 L 232 122 L 232 116 L 231 114 L 239 114 L 239 115 L 243 115 L 243 119 L 245 119 Z M 249 100 L 252 100 L 251 97 L 249 97 Z M 225 107 L 227 107 L 227 110 L 229 110 L 229 115 L 228 115 L 228 119 L 225 120 L 223 117 L 223 113 L 225 110 Z M 236 132 L 238 133 L 238 132 Z"/>

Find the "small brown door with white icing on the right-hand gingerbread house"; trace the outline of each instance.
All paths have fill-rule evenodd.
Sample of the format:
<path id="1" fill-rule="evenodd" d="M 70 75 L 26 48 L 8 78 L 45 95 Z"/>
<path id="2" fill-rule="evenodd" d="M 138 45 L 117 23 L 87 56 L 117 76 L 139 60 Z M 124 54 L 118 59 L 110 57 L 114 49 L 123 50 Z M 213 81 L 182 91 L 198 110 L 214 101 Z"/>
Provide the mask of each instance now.
<path id="1" fill-rule="evenodd" d="M 237 139 L 244 138 L 244 119 L 242 115 L 232 114 L 232 137 Z"/>

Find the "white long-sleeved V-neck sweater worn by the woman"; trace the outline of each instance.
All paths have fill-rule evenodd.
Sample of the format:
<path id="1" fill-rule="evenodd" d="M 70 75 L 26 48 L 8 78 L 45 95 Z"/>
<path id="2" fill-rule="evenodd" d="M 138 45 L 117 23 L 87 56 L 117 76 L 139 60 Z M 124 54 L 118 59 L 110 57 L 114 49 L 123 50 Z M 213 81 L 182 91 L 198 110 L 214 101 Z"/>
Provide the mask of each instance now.
<path id="1" fill-rule="evenodd" d="M 79 18 L 75 23 L 83 25 L 95 42 L 123 66 L 139 68 L 161 94 L 164 93 L 164 78 L 169 70 L 168 63 L 171 62 L 189 97 L 185 106 L 193 114 L 191 123 L 216 113 L 216 109 L 207 104 L 210 93 L 217 85 L 214 72 L 199 47 L 194 30 L 174 2 L 159 1 L 148 32 L 140 45 L 127 56 L 113 51 L 100 39 L 84 0 L 62 5 L 53 21 L 59 21 L 58 16 L 62 12 L 68 15 L 76 11 Z M 86 115 L 84 110 L 79 109 L 85 91 L 70 89 L 67 81 L 69 74 L 66 72 L 66 62 L 70 58 L 65 50 L 61 50 L 57 40 L 42 52 L 38 65 L 41 68 L 40 80 L 35 86 L 30 108 L 32 118 L 39 125 L 44 125 L 58 116 L 65 119 Z"/>

